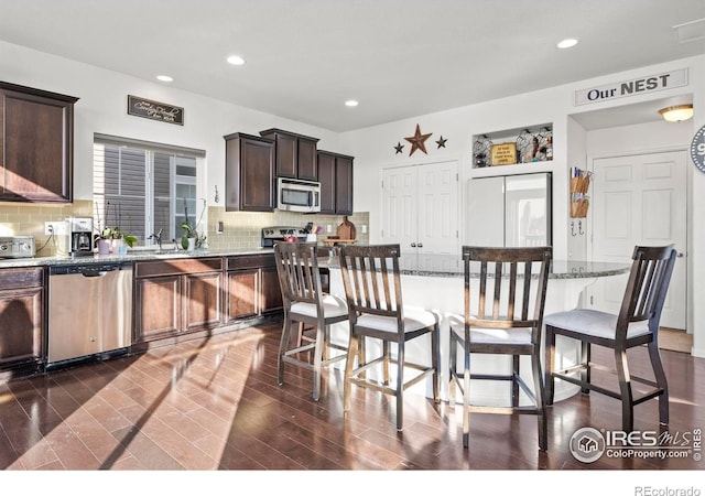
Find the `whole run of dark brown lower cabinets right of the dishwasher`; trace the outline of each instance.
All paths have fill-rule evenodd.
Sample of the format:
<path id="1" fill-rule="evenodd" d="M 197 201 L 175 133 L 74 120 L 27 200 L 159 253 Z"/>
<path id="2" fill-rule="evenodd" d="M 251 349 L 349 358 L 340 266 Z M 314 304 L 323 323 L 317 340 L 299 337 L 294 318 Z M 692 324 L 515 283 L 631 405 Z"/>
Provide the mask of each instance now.
<path id="1" fill-rule="evenodd" d="M 227 331 L 283 309 L 273 254 L 134 263 L 133 344 Z M 196 334 L 197 335 L 197 334 Z"/>

